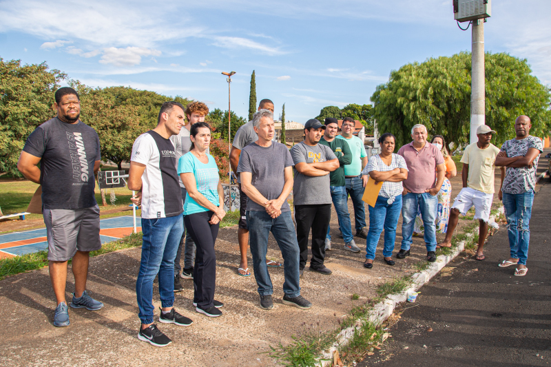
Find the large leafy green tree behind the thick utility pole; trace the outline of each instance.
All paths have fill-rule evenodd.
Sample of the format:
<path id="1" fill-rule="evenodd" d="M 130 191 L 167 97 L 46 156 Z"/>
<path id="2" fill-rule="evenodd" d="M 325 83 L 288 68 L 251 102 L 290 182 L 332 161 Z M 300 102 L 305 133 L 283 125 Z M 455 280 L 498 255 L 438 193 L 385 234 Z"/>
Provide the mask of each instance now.
<path id="1" fill-rule="evenodd" d="M 410 140 L 411 127 L 422 123 L 429 135 L 441 134 L 448 143 L 468 143 L 470 72 L 469 52 L 394 70 L 371 96 L 379 131 L 393 133 L 399 147 Z M 521 114 L 532 119 L 530 134 L 548 135 L 550 90 L 531 72 L 526 59 L 486 53 L 486 125 L 497 131 L 498 146 L 514 138 L 514 119 Z"/>

